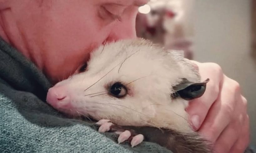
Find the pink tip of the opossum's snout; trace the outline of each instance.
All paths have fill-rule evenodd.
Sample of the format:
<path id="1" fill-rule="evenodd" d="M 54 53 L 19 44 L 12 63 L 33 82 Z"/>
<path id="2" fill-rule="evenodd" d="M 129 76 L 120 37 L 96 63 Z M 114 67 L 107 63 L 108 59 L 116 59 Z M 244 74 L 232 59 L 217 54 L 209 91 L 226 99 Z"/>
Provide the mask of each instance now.
<path id="1" fill-rule="evenodd" d="M 71 99 L 64 86 L 54 86 L 49 89 L 46 101 L 54 108 L 71 108 Z"/>

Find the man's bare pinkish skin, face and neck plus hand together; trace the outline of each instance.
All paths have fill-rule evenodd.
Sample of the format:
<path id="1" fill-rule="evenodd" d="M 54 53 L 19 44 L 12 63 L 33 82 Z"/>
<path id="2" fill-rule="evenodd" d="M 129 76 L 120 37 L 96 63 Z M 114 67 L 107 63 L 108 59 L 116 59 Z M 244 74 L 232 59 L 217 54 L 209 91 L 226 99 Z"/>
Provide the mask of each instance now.
<path id="1" fill-rule="evenodd" d="M 56 83 L 76 73 L 105 42 L 136 37 L 135 18 L 147 0 L 0 0 L 0 36 Z M 243 152 L 249 143 L 247 101 L 239 84 L 215 63 L 193 61 L 205 94 L 187 112 L 195 131 L 219 153 Z"/>

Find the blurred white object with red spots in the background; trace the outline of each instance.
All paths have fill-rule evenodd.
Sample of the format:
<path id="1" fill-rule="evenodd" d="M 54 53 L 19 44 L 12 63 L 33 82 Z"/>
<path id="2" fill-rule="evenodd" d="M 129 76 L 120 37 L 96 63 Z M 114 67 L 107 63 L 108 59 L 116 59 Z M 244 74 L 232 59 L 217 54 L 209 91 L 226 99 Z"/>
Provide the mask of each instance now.
<path id="1" fill-rule="evenodd" d="M 193 3 L 194 0 L 151 0 L 147 4 L 149 12 L 142 14 L 139 10 L 137 36 L 168 49 L 183 50 L 187 58 L 192 58 Z"/>

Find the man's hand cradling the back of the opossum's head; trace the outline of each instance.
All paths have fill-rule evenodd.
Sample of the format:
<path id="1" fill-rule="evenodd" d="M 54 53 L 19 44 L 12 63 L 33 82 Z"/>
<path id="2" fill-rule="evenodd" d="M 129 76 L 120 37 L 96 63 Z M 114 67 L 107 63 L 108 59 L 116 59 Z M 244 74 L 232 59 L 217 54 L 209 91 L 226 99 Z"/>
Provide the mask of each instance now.
<path id="1" fill-rule="evenodd" d="M 242 153 L 249 144 L 249 118 L 238 82 L 225 76 L 218 64 L 192 62 L 202 80 L 210 78 L 204 95 L 187 108 L 192 127 L 214 144 L 216 152 Z"/>

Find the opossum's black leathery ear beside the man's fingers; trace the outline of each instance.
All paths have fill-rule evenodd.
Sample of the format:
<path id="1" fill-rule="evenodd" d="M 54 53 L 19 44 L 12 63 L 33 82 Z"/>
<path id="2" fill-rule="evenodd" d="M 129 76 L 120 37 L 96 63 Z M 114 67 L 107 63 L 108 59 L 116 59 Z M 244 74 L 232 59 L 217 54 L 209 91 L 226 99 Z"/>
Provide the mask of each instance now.
<path id="1" fill-rule="evenodd" d="M 201 97 L 206 89 L 206 84 L 210 79 L 206 79 L 203 82 L 195 83 L 190 82 L 187 79 L 183 79 L 183 81 L 174 86 L 175 95 L 180 96 L 182 99 L 187 101 Z"/>

